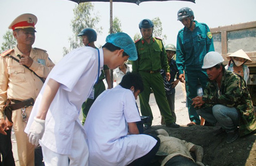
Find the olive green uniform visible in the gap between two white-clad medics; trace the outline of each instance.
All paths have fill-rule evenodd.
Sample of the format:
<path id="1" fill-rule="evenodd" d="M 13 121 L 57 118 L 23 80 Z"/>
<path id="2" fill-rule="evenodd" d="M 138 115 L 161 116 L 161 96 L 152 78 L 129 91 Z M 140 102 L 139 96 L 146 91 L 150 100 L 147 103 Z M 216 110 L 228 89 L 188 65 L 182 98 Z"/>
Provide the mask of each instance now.
<path id="1" fill-rule="evenodd" d="M 93 88 L 94 88 L 94 99 L 90 99 L 88 98 L 85 102 L 83 102 L 82 104 L 82 111 L 83 111 L 83 120 L 82 120 L 82 124 L 84 125 L 86 116 L 93 104 L 93 102 L 98 98 L 98 96 L 106 90 L 105 84 L 103 82 L 103 80 L 105 79 L 105 73 L 104 71 L 106 69 L 109 69 L 107 65 L 103 65 L 103 70 L 101 70 L 101 74 L 99 76 L 99 80 L 97 83 L 94 84 Z"/>

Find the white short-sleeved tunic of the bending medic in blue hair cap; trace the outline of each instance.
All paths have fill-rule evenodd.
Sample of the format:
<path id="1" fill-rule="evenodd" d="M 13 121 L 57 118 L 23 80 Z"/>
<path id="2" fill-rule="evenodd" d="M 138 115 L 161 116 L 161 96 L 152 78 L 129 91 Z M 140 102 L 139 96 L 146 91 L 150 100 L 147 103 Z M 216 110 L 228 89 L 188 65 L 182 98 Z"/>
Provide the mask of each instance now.
<path id="1" fill-rule="evenodd" d="M 25 129 L 26 133 L 37 114 L 49 78 L 61 84 L 47 112 L 45 132 L 39 142 L 53 152 L 70 154 L 75 121 L 84 130 L 78 116 L 82 103 L 97 81 L 99 67 L 100 70 L 103 68 L 102 49 L 99 52 L 100 66 L 97 49 L 81 47 L 71 51 L 52 69 L 37 97 Z"/>

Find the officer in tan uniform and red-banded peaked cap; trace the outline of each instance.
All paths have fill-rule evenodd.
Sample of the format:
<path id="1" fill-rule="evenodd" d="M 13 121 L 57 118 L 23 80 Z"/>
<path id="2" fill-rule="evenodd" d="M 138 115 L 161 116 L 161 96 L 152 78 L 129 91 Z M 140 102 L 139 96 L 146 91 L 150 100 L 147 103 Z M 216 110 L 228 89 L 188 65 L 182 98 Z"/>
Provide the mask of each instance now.
<path id="1" fill-rule="evenodd" d="M 35 42 L 34 14 L 21 14 L 10 24 L 17 46 L 0 57 L 0 129 L 5 134 L 3 111 L 13 128 L 17 140 L 20 165 L 34 166 L 35 146 L 24 132 L 43 82 L 54 64 L 45 50 L 33 48 Z M 6 104 L 5 109 L 3 106 Z M 12 123 L 7 123 L 11 124 Z M 42 160 L 41 160 L 42 162 Z"/>

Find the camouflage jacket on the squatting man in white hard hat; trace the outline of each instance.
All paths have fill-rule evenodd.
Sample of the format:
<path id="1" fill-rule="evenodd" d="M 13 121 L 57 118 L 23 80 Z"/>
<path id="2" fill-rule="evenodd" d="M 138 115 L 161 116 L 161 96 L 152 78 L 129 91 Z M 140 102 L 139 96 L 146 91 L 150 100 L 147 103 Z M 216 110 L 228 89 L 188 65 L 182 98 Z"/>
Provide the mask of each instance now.
<path id="1" fill-rule="evenodd" d="M 256 113 L 253 109 L 251 95 L 244 79 L 230 71 L 225 71 L 221 79 L 220 89 L 215 81 L 209 81 L 203 95 L 204 107 L 222 104 L 235 107 L 241 115 L 239 134 L 244 136 L 256 129 Z"/>

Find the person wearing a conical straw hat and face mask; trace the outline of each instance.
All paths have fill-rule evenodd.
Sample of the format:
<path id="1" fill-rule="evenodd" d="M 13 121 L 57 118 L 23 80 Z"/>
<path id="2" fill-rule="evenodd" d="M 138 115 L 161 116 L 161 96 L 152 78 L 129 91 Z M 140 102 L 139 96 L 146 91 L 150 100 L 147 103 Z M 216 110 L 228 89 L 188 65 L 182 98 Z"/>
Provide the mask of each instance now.
<path id="1" fill-rule="evenodd" d="M 252 63 L 249 56 L 244 52 L 244 50 L 240 49 L 227 56 L 227 59 L 229 59 L 229 63 L 225 66 L 225 69 L 241 75 L 247 83 L 250 71 L 245 63 Z"/>

